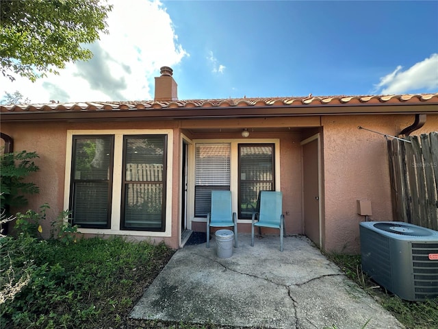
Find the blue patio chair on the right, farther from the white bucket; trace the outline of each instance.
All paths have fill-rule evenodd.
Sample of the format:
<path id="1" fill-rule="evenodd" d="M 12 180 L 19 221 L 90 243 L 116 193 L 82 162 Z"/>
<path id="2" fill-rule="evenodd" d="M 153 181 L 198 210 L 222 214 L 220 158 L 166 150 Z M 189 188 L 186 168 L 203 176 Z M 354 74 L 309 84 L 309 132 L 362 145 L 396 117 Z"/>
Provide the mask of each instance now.
<path id="1" fill-rule="evenodd" d="M 260 208 L 253 212 L 251 219 L 251 246 L 254 247 L 254 226 L 263 228 L 278 228 L 280 230 L 280 251 L 283 252 L 283 235 L 285 232 L 285 216 L 283 215 L 283 193 L 276 191 L 261 191 L 259 193 Z"/>

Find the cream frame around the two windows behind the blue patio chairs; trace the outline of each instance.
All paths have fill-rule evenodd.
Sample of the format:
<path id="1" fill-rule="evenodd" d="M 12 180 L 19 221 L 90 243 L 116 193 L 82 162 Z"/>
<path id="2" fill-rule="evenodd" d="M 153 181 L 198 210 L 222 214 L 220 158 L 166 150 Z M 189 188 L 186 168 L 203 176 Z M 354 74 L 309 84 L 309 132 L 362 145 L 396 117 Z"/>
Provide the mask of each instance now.
<path id="1" fill-rule="evenodd" d="M 231 191 L 231 208 L 233 212 L 237 213 L 237 193 L 238 191 L 238 170 L 239 170 L 239 149 L 237 147 L 238 144 L 274 144 L 274 166 L 275 166 L 275 191 L 281 191 L 281 179 L 280 179 L 280 139 L 279 138 L 238 138 L 238 139 L 194 139 L 192 140 L 193 149 L 196 147 L 196 144 L 207 144 L 207 143 L 230 143 L 231 145 L 231 182 L 230 182 L 230 191 Z M 194 154 L 194 153 L 193 153 Z M 194 157 L 194 156 L 193 156 Z M 190 181 L 189 181 L 189 204 L 188 204 L 188 218 L 190 218 L 190 222 L 206 222 L 207 219 L 203 217 L 194 217 L 194 186 L 195 186 L 195 167 L 194 167 L 194 159 L 193 166 L 190 168 Z M 251 223 L 250 219 L 238 219 L 238 223 Z"/>

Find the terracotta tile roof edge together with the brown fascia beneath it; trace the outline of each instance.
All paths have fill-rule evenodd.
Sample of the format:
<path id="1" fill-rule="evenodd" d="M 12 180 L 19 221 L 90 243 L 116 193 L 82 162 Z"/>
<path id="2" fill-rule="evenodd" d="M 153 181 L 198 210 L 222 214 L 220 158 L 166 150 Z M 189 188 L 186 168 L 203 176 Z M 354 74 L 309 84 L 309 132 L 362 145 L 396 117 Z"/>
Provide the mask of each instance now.
<path id="1" fill-rule="evenodd" d="M 0 121 L 183 120 L 347 114 L 438 114 L 438 93 L 177 101 L 106 101 L 0 106 Z"/>

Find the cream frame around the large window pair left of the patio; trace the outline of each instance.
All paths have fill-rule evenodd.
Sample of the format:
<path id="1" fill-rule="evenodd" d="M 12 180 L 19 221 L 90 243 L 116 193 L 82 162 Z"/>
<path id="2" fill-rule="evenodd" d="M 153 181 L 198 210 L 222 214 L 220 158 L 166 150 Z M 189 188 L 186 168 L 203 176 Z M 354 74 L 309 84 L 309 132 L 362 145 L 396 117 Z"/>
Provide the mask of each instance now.
<path id="1" fill-rule="evenodd" d="M 64 184 L 64 209 L 68 209 L 70 200 L 70 178 L 72 164 L 73 135 L 114 135 L 114 172 L 112 184 L 111 228 L 80 228 L 85 234 L 127 235 L 127 236 L 162 236 L 172 235 L 172 166 L 173 166 L 173 130 L 67 130 L 66 171 Z M 167 174 L 166 174 L 166 230 L 164 232 L 142 230 L 120 230 L 120 213 L 122 200 L 123 136 L 166 134 Z"/>

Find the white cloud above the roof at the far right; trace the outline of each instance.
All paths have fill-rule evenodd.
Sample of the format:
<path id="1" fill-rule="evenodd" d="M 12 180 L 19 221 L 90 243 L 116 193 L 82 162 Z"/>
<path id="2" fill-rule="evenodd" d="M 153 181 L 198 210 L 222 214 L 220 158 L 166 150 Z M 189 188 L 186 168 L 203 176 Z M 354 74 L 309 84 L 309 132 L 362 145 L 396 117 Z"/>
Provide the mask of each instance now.
<path id="1" fill-rule="evenodd" d="M 402 66 L 388 75 L 381 77 L 381 81 L 375 85 L 374 92 L 382 94 L 402 94 L 415 90 L 433 90 L 438 88 L 438 53 L 433 53 L 430 58 L 418 62 L 406 71 Z"/>

